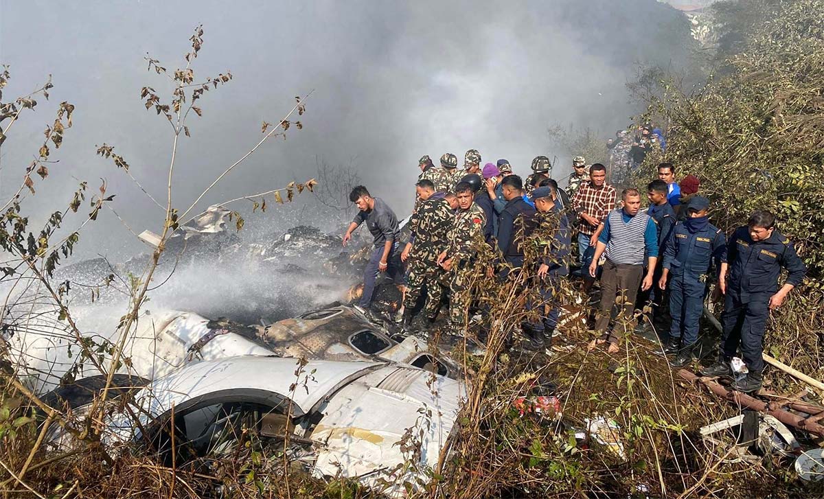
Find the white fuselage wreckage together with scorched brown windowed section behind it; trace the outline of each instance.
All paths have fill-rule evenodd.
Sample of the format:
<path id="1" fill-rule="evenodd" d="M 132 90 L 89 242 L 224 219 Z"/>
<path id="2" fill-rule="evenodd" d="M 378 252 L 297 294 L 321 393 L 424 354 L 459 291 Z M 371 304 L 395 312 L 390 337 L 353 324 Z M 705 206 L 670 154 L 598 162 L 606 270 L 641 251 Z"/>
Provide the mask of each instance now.
<path id="1" fill-rule="evenodd" d="M 285 440 L 288 457 L 318 477 L 403 495 L 400 484 L 425 480 L 438 464 L 466 399 L 458 366 L 427 348 L 345 305 L 269 326 L 179 311 L 147 315 L 127 346 L 129 374 L 114 380 L 115 394 L 131 392 L 133 402 L 106 420 L 103 442 L 111 450 L 137 445 L 166 462 L 174 441 L 180 465 L 233 451 L 241 435 L 278 450 Z M 81 424 L 105 385 L 103 375 L 90 374 L 44 399 L 71 408 Z M 411 468 L 402 451 L 410 429 L 417 441 L 408 443 L 420 449 Z M 50 440 L 59 450 L 72 445 L 62 431 Z"/>

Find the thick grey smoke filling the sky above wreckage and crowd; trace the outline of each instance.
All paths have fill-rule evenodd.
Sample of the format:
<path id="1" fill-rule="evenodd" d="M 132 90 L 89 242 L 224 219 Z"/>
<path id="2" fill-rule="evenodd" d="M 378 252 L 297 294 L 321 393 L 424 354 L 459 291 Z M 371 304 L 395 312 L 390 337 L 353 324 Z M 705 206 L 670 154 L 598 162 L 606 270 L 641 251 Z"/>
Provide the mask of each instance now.
<path id="1" fill-rule="evenodd" d="M 182 65 L 189 37 L 204 25 L 195 80 L 229 70 L 234 79 L 201 100 L 190 119 L 175 175 L 185 208 L 227 165 L 260 139 L 293 96 L 315 90 L 304 128 L 269 142 L 205 199 L 204 207 L 314 175 L 316 156 L 348 163 L 397 212 L 411 206 L 417 160 L 443 152 L 462 160 L 507 158 L 528 173 L 531 158 L 565 157 L 550 148 L 550 124 L 599 128 L 605 136 L 639 110 L 627 104 L 634 62 L 667 64 L 686 47 L 673 33 L 681 14 L 654 0 L 556 2 L 34 2 L 0 0 L 0 63 L 12 81 L 3 100 L 53 75 L 40 99 L 0 149 L 5 199 L 54 119 L 61 100 L 77 106 L 74 127 L 37 179 L 32 214 L 68 203 L 75 178 L 117 194 L 113 206 L 135 230 L 159 230 L 162 212 L 95 145 L 115 146 L 138 180 L 165 198 L 171 133 L 147 112 L 142 86 L 168 95 L 171 83 L 146 71 L 148 53 Z M 565 175 L 565 173 L 564 173 Z M 271 200 L 270 200 L 271 201 Z M 267 212 L 266 217 L 285 216 Z M 264 219 L 265 220 L 265 219 Z M 258 221 L 260 223 L 260 221 Z M 90 227 L 82 252 L 123 254 L 133 237 L 110 212 Z M 125 250 L 124 250 L 125 249 Z"/>

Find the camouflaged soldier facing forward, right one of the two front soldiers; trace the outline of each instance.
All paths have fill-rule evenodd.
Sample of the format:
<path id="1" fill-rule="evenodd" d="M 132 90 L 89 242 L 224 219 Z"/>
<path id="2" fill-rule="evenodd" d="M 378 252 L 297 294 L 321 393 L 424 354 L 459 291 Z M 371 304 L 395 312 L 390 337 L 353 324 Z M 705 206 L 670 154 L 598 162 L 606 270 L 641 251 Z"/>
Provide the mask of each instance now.
<path id="1" fill-rule="evenodd" d="M 456 185 L 458 211 L 455 223 L 449 231 L 447 249 L 438 255 L 438 264 L 447 271 L 446 277 L 451 291 L 449 296 L 449 324 L 452 333 L 461 331 L 471 296 L 469 285 L 480 267 L 473 265 L 475 245 L 484 243 L 486 217 L 484 210 L 473 202 L 470 184 Z"/>

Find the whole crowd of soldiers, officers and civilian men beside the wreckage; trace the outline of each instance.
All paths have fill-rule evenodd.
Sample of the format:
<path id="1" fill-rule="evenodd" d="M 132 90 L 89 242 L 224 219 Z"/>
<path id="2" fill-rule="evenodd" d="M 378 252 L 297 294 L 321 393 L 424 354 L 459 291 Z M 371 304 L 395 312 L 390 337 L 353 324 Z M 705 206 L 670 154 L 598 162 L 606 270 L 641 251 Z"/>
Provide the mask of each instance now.
<path id="1" fill-rule="evenodd" d="M 748 373 L 733 382 L 733 389 L 761 387 L 766 319 L 806 273 L 792 243 L 776 230 L 772 213 L 753 212 L 746 226 L 727 236 L 709 222 L 710 201 L 698 192 L 699 180 L 686 175 L 677 182 L 671 163 L 658 166 L 658 178 L 645 192 L 626 188 L 620 194 L 607 182 L 606 166 L 587 166 L 581 156 L 574 157 L 565 189 L 551 178 L 546 156 L 532 161 L 525 180 L 504 159 L 481 167 L 475 149 L 466 152 L 463 168 L 457 163 L 451 153 L 441 156 L 439 166 L 429 156 L 420 158 L 411 236 L 403 245 L 389 205 L 363 185 L 352 190 L 349 198 L 359 211 L 344 245 L 363 222 L 374 237 L 357 305 L 364 314 L 371 313 L 377 277 L 386 273 L 405 290 L 396 317 L 403 327 L 425 330 L 448 292 L 449 333 L 461 336 L 473 304 L 473 279 L 506 282 L 530 273 L 534 279 L 520 281 L 534 287 L 531 296 L 537 296 L 524 305 L 533 312 L 522 324 L 525 346 L 549 352 L 559 319 L 559 289 L 577 276 L 585 292 L 600 280 L 595 338 L 588 347 L 619 352 L 621 339 L 634 329 L 634 310 L 639 302 L 648 303 L 654 314 L 668 309 L 671 323 L 668 334 L 662 334 L 661 352 L 673 367 L 681 367 L 693 360 L 705 297 L 716 282 L 724 296 L 721 346 L 718 360 L 701 372 L 732 375 L 730 362 L 740 348 Z M 648 206 L 642 208 L 644 194 Z M 536 231 L 542 226 L 551 229 Z M 536 237 L 541 254 L 525 259 L 526 242 Z M 486 250 L 494 259 L 481 261 Z M 787 277 L 779 287 L 782 269 Z"/>

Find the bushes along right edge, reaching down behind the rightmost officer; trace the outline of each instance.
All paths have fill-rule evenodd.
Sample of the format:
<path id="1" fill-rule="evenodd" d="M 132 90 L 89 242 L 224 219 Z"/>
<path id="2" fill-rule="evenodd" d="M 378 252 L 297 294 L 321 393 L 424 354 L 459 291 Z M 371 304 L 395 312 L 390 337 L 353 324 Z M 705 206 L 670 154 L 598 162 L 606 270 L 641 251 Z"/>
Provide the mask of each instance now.
<path id="1" fill-rule="evenodd" d="M 729 54 L 721 76 L 700 91 L 686 91 L 672 77 L 659 82 L 641 119 L 666 119 L 667 151 L 647 157 L 638 181 L 653 177 L 658 161 L 672 161 L 680 176 L 698 176 L 701 194 L 713 202 L 710 217 L 728 233 L 756 209 L 775 213 L 809 272 L 803 288 L 771 315 L 765 347 L 821 375 L 824 1 L 742 0 L 715 8 L 722 40 L 738 41 L 719 48 Z M 773 383 L 794 389 L 789 380 Z"/>

